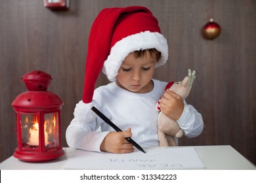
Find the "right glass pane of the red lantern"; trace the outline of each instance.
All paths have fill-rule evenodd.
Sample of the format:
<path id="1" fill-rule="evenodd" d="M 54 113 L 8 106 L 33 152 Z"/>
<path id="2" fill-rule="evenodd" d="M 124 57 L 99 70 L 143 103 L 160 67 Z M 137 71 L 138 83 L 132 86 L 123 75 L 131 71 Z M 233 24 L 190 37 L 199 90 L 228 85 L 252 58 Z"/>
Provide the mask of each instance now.
<path id="1" fill-rule="evenodd" d="M 45 148 L 59 146 L 59 120 L 58 112 L 45 114 Z"/>

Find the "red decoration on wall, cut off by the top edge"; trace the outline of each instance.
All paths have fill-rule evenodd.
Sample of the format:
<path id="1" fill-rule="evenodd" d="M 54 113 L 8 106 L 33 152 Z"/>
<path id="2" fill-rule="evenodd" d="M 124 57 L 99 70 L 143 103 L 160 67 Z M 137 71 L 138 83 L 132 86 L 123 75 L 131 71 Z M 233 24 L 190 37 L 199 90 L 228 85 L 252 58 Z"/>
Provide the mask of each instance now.
<path id="1" fill-rule="evenodd" d="M 70 0 L 43 0 L 43 4 L 51 10 L 68 10 Z"/>

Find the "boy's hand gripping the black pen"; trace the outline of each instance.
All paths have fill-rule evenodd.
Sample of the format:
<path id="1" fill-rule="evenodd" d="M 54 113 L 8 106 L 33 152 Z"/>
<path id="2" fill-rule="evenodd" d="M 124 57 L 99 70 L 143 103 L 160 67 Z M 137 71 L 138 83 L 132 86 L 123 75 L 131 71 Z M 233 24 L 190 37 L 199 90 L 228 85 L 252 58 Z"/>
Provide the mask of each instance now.
<path id="1" fill-rule="evenodd" d="M 131 128 L 126 131 L 110 132 L 100 144 L 100 150 L 111 153 L 133 152 L 135 148 L 133 148 L 133 145 L 125 139 L 131 136 Z"/>

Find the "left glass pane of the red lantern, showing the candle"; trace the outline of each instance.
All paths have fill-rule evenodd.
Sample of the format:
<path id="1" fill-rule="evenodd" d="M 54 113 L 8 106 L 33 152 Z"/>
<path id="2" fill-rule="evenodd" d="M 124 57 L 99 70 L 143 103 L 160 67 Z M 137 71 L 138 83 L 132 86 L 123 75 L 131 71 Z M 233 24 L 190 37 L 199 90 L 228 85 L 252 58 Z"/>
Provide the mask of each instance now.
<path id="1" fill-rule="evenodd" d="M 37 114 L 21 114 L 22 148 L 39 148 Z"/>

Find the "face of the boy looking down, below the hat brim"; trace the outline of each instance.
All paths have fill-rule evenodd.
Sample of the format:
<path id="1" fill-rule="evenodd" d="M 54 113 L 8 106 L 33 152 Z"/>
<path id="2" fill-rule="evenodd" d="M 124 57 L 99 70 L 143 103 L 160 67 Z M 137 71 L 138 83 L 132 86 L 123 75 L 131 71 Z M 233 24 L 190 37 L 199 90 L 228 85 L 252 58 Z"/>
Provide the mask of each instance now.
<path id="1" fill-rule="evenodd" d="M 156 56 L 151 56 L 150 52 L 140 58 L 135 58 L 130 53 L 123 61 L 116 83 L 119 87 L 134 93 L 148 93 L 154 84 L 151 82 L 157 63 Z"/>

